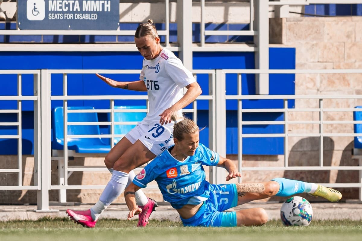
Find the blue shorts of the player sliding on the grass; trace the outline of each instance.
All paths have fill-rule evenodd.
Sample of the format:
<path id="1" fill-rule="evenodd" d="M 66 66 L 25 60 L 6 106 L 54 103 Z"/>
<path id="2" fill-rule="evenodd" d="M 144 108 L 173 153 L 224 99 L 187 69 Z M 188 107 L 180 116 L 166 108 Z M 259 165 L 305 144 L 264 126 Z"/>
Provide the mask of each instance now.
<path id="1" fill-rule="evenodd" d="M 235 227 L 236 212 L 224 211 L 236 205 L 236 184 L 210 184 L 210 198 L 192 218 L 181 220 L 184 226 Z"/>

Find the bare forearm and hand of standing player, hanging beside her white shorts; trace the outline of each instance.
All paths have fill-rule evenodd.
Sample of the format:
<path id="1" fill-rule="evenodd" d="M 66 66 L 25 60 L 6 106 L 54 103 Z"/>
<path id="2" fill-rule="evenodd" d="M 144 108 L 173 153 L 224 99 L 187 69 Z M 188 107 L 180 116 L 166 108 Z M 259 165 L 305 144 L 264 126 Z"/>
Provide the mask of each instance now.
<path id="1" fill-rule="evenodd" d="M 175 115 L 176 112 L 193 102 L 197 96 L 201 95 L 202 90 L 197 82 L 190 83 L 186 86 L 185 95 L 176 103 L 173 104 L 170 108 L 167 108 L 159 116 L 161 125 L 171 123 L 171 116 Z"/>

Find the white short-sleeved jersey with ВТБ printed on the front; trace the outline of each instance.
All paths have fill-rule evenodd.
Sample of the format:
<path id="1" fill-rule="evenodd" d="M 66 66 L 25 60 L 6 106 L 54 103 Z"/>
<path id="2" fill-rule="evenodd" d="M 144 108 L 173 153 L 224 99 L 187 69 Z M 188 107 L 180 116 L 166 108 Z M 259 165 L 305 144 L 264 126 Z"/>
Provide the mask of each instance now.
<path id="1" fill-rule="evenodd" d="M 183 88 L 196 82 L 181 60 L 165 48 L 155 59 L 143 60 L 140 79 L 147 87 L 150 104 L 150 111 L 142 121 L 144 124 L 158 123 L 159 115 L 184 96 Z"/>

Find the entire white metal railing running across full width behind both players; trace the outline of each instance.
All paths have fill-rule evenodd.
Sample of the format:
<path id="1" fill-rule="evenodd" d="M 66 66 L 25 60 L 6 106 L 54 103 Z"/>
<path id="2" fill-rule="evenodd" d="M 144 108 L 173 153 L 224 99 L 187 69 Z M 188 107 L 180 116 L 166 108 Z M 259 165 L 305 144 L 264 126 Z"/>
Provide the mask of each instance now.
<path id="1" fill-rule="evenodd" d="M 17 172 L 19 173 L 18 185 L 15 186 L 0 186 L 2 190 L 29 190 L 34 189 L 38 190 L 38 209 L 39 210 L 49 210 L 49 190 L 60 190 L 65 191 L 67 189 L 100 189 L 104 188 L 104 185 L 68 185 L 67 177 L 72 171 L 86 171 L 85 169 L 76 169 L 68 168 L 68 162 L 64 161 L 64 174 L 63 179 L 59 180 L 58 185 L 51 185 L 50 182 L 50 160 L 54 157 L 51 156 L 51 146 L 50 146 L 50 103 L 53 100 L 63 100 L 63 107 L 65 110 L 64 116 L 67 116 L 68 100 L 109 100 L 110 108 L 109 109 L 96 109 L 95 112 L 105 112 L 105 113 L 114 113 L 118 110 L 114 109 L 114 100 L 121 99 L 144 99 L 147 100 L 147 95 L 134 96 L 134 95 L 68 95 L 67 94 L 67 78 L 69 74 L 93 74 L 93 73 L 102 73 L 102 74 L 138 74 L 139 70 L 0 70 L 0 81 L 4 79 L 1 78 L 3 74 L 17 74 L 18 75 L 18 90 L 21 90 L 21 76 L 23 74 L 33 74 L 34 75 L 34 96 L 22 96 L 21 92 L 17 96 L 0 96 L 0 100 L 17 100 L 18 109 L 14 110 L 1 110 L 1 113 L 17 113 L 19 121 L 17 122 L 6 122 L 1 123 L 1 125 L 15 125 L 18 126 L 17 135 L 2 135 L 0 138 L 17 138 L 19 140 L 18 145 L 18 168 L 15 169 L 1 169 L 0 172 Z M 361 165 L 349 165 L 349 166 L 337 166 L 337 165 L 325 165 L 324 162 L 324 147 L 323 147 L 323 137 L 352 137 L 358 136 L 360 134 L 355 134 L 353 132 L 325 132 L 324 126 L 335 124 L 335 125 L 352 125 L 352 124 L 362 124 L 362 121 L 353 121 L 352 119 L 343 119 L 343 120 L 326 120 L 324 115 L 327 112 L 345 112 L 352 113 L 355 111 L 353 102 L 349 106 L 344 106 L 343 108 L 334 108 L 325 106 L 325 102 L 329 100 L 359 100 L 362 99 L 362 95 L 241 95 L 241 77 L 242 74 L 258 74 L 258 73 L 284 73 L 284 74 L 300 74 L 300 73 L 347 73 L 347 74 L 360 74 L 362 73 L 361 69 L 329 69 L 329 70 L 242 70 L 242 69 L 225 69 L 225 70 L 193 70 L 195 77 L 200 74 L 207 74 L 209 76 L 209 93 L 206 95 L 201 95 L 193 103 L 191 109 L 185 109 L 185 112 L 192 112 L 193 118 L 197 118 L 197 102 L 198 100 L 207 100 L 209 101 L 209 146 L 211 149 L 219 152 L 220 155 L 226 156 L 226 101 L 227 100 L 237 100 L 238 101 L 238 133 L 239 133 L 239 143 L 238 143 L 238 161 L 239 169 L 241 171 L 289 171 L 289 170 L 319 170 L 319 171 L 328 171 L 328 170 L 350 170 L 350 171 L 359 171 L 362 173 Z M 227 95 L 226 94 L 226 74 L 235 73 L 238 78 L 237 94 L 236 95 Z M 61 96 L 51 95 L 51 76 L 52 74 L 63 74 L 63 88 L 64 94 Z M 39 91 L 40 90 L 40 91 Z M 274 109 L 243 109 L 242 100 L 245 99 L 281 99 L 283 100 L 283 107 L 274 108 Z M 290 99 L 295 100 L 310 100 L 315 99 L 317 102 L 316 107 L 302 107 L 298 108 L 288 108 L 287 101 Z M 34 176 L 35 184 L 32 186 L 23 186 L 21 180 L 21 102 L 22 100 L 33 100 L 34 101 Z M 284 113 L 285 119 L 282 121 L 243 121 L 242 113 L 247 112 L 282 112 Z M 292 112 L 316 112 L 319 113 L 318 120 L 292 120 L 289 118 L 289 113 Z M 217 113 L 217 115 L 216 115 Z M 41 120 L 41 121 L 40 121 Z M 73 122 L 67 122 L 64 120 L 64 130 L 67 130 L 67 125 L 74 124 Z M 92 124 L 89 122 L 80 122 L 77 124 Z M 101 124 L 110 125 L 111 130 L 114 130 L 114 125 L 119 124 L 115 121 L 102 122 Z M 284 125 L 284 133 L 280 134 L 243 134 L 242 126 L 243 125 Z M 311 133 L 294 133 L 289 131 L 289 127 L 295 124 L 306 124 L 306 125 L 318 125 L 319 132 Z M 64 140 L 67 140 L 67 133 L 64 133 Z M 87 135 L 81 135 L 77 137 L 87 138 Z M 88 136 L 93 137 L 93 136 Z M 97 135 L 97 137 L 111 138 L 113 143 L 114 137 L 118 137 L 114 133 Z M 243 148 L 242 141 L 243 138 L 253 138 L 253 137 L 283 137 L 284 138 L 284 161 L 282 166 L 275 167 L 246 167 L 243 165 Z M 289 138 L 291 137 L 316 137 L 319 138 L 319 157 L 317 165 L 293 165 L 290 163 L 290 144 Z M 42 145 L 40 144 L 42 143 Z M 68 159 L 67 151 L 67 142 L 64 142 L 64 149 L 62 155 L 60 156 L 63 160 Z M 57 160 L 59 160 L 58 158 Z M 104 171 L 105 168 L 100 168 L 95 171 Z M 94 171 L 94 170 L 93 170 Z M 360 175 L 361 179 L 361 175 Z M 360 180 L 359 179 L 359 180 Z M 220 169 L 210 168 L 210 181 L 213 183 L 222 183 L 224 182 L 224 172 Z M 362 188 L 361 182 L 356 183 L 325 183 L 325 185 L 336 187 L 336 188 Z M 63 193 L 64 194 L 64 193 Z"/>

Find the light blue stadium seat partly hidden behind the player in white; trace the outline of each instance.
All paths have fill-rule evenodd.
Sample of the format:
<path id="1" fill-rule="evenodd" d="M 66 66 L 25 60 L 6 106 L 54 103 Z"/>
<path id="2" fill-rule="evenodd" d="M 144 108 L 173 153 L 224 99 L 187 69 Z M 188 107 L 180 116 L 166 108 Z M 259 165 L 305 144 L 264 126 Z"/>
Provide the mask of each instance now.
<path id="1" fill-rule="evenodd" d="M 115 106 L 114 109 L 144 109 L 145 112 L 114 112 L 114 121 L 115 122 L 138 122 L 142 121 L 147 115 L 146 106 Z M 114 134 L 116 135 L 125 135 L 136 125 L 114 125 Z M 121 140 L 121 137 L 114 138 L 114 144 L 117 144 Z"/>

